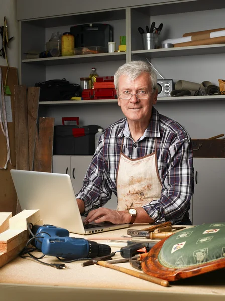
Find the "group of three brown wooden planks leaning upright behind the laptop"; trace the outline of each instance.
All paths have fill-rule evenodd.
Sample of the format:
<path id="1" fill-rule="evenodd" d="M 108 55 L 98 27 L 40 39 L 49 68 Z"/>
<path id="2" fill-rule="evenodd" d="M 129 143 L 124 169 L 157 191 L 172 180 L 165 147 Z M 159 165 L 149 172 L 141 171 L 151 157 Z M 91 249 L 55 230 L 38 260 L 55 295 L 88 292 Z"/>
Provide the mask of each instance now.
<path id="1" fill-rule="evenodd" d="M 52 172 L 54 118 L 39 118 L 40 87 L 14 86 L 16 169 Z"/>

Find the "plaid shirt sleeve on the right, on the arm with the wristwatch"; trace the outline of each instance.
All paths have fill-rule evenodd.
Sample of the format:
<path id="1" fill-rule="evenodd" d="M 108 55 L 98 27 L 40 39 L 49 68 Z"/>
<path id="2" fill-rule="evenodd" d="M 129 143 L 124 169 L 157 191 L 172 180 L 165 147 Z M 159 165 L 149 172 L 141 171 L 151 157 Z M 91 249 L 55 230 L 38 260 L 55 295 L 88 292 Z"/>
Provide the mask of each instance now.
<path id="1" fill-rule="evenodd" d="M 189 209 L 194 188 L 194 170 L 191 140 L 178 138 L 170 145 L 162 172 L 160 199 L 153 200 L 143 208 L 155 223 L 182 221 Z"/>

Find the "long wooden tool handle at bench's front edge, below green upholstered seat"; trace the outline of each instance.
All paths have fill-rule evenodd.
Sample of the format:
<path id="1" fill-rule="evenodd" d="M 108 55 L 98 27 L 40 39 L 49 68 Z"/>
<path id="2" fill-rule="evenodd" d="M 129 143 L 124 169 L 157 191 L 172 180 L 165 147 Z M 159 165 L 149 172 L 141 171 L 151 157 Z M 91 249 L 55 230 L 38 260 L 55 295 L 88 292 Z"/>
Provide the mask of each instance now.
<path id="1" fill-rule="evenodd" d="M 131 276 L 134 276 L 134 277 L 139 278 L 139 279 L 143 279 L 143 280 L 155 283 L 155 284 L 159 284 L 159 285 L 162 285 L 162 286 L 165 286 L 165 287 L 169 286 L 169 282 L 167 280 L 163 280 L 163 279 L 160 279 L 160 278 L 157 278 L 157 277 L 153 277 L 153 276 L 146 275 L 146 274 L 143 274 L 143 273 L 140 273 L 140 272 L 136 272 L 136 271 L 130 270 L 130 269 L 125 268 L 125 267 L 110 264 L 107 261 L 102 261 L 101 260 L 101 261 L 98 261 L 97 264 L 101 265 L 101 266 L 104 266 L 104 267 L 114 269 L 116 271 L 131 275 Z"/>

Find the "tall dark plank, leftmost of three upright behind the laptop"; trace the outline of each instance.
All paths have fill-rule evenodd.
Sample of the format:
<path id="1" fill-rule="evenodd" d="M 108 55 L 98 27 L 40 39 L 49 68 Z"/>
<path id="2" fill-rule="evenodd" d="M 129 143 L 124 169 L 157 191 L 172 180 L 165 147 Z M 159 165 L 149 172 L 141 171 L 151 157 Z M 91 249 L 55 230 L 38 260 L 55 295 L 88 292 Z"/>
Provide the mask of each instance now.
<path id="1" fill-rule="evenodd" d="M 25 85 L 16 85 L 14 93 L 16 169 L 29 170 L 27 88 Z"/>

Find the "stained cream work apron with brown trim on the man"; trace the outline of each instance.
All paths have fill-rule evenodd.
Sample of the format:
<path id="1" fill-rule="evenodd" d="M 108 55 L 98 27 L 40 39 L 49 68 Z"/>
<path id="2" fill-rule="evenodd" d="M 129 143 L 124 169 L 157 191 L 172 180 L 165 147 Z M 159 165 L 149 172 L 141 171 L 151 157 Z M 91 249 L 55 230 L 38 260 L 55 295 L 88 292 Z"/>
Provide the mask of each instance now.
<path id="1" fill-rule="evenodd" d="M 120 150 L 117 171 L 117 210 L 142 207 L 161 196 L 162 182 L 157 168 L 157 139 L 153 153 L 130 159 Z"/>

